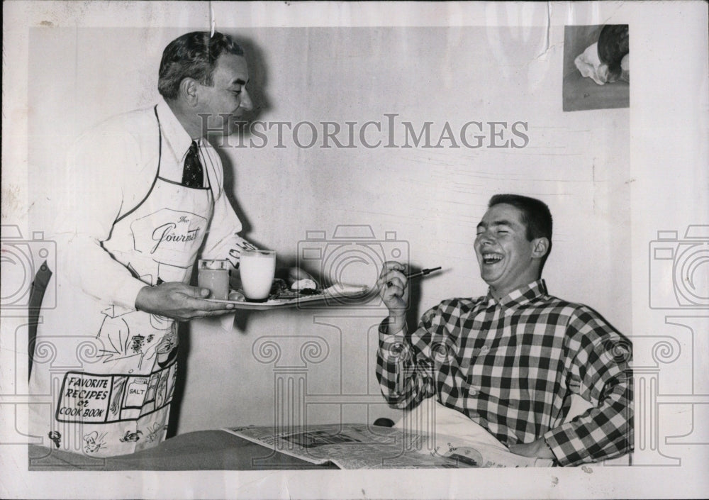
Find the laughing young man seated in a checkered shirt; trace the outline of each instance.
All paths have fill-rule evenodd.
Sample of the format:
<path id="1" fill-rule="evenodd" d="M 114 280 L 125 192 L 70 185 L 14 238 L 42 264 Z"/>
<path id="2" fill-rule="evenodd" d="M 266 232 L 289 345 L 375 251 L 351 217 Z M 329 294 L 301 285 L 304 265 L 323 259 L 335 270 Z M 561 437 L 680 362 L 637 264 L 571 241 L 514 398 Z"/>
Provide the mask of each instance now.
<path id="1" fill-rule="evenodd" d="M 411 409 L 435 396 L 511 452 L 560 465 L 629 452 L 632 347 L 593 309 L 547 293 L 547 205 L 493 196 L 474 246 L 488 294 L 442 301 L 413 333 L 405 268 L 384 265 L 379 286 L 389 317 L 379 328 L 376 375 L 390 406 Z M 569 421 L 574 394 L 591 408 Z"/>

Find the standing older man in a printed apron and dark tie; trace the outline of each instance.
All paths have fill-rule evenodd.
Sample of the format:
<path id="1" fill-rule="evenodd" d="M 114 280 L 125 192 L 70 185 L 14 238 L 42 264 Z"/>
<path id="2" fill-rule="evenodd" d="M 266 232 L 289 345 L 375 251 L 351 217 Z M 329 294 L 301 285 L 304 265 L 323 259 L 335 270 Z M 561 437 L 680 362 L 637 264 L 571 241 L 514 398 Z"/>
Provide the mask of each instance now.
<path id="1" fill-rule="evenodd" d="M 248 79 L 232 40 L 188 33 L 163 53 L 164 101 L 77 142 L 67 177 L 78 185 L 62 187 L 56 308 L 42 311 L 30 374 L 31 393 L 45 396 L 30 407 L 30 429 L 45 445 L 102 457 L 164 439 L 176 321 L 231 309 L 189 286 L 196 256 L 236 265 L 250 247 L 202 123 L 250 110 Z"/>

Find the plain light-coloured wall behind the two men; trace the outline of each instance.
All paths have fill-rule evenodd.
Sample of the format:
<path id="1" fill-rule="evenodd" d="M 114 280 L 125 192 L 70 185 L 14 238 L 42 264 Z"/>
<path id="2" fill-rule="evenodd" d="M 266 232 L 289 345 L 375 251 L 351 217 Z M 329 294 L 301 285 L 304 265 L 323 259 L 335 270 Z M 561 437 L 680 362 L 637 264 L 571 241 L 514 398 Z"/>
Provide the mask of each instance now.
<path id="1" fill-rule="evenodd" d="M 446 141 L 444 148 L 304 149 L 291 140 L 273 148 L 272 131 L 265 148 L 222 148 L 246 238 L 294 261 L 306 231 L 330 237 L 337 226 L 367 225 L 379 240 L 395 232 L 412 265 L 446 269 L 420 282 L 418 316 L 447 296 L 485 293 L 472 242 L 491 194 L 538 196 L 554 214 L 549 291 L 593 306 L 630 333 L 629 112 L 562 112 L 563 26 L 552 26 L 548 45 L 542 27 L 222 30 L 252 49 L 260 120 L 386 126 L 384 113 L 398 113 L 399 145 L 401 121 L 417 129 L 433 122 L 434 143 L 446 122 L 457 131 L 468 121 L 524 121 L 530 139 L 519 149 Z M 153 104 L 162 48 L 184 32 L 30 29 L 33 227 L 49 223 L 70 138 L 111 114 Z M 520 142 L 509 134 L 503 140 L 510 138 Z M 348 277 L 355 267 L 361 279 L 376 275 L 353 265 Z M 274 420 L 274 364 L 255 354 L 264 336 L 281 347 L 279 369 L 303 365 L 306 340 L 325 349 L 321 359 L 310 352 L 318 362 L 308 362 L 307 391 L 331 402 L 309 405 L 308 421 L 396 415 L 376 399 L 383 317 L 372 307 L 253 312 L 226 329 L 195 322 L 178 431 Z M 363 394 L 374 403 L 362 403 Z"/>

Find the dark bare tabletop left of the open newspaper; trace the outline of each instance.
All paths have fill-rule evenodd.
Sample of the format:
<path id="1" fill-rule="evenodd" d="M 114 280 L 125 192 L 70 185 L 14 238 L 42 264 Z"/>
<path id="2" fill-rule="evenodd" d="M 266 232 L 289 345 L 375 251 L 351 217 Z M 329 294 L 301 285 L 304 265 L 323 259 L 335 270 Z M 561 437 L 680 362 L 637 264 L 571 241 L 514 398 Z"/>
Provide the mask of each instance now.
<path id="1" fill-rule="evenodd" d="M 298 470 L 337 469 L 264 448 L 225 430 L 197 430 L 155 448 L 119 457 L 86 457 L 30 445 L 30 471 L 48 470 Z"/>

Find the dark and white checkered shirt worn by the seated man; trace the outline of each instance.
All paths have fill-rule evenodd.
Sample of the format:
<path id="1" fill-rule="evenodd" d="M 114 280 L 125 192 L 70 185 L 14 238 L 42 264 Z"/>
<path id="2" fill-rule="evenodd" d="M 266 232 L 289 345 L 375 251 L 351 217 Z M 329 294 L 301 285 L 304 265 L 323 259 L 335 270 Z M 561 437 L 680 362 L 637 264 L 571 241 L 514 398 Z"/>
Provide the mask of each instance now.
<path id="1" fill-rule="evenodd" d="M 598 313 L 542 280 L 500 301 L 449 299 L 418 330 L 379 328 L 376 376 L 390 406 L 435 396 L 505 445 L 544 437 L 561 465 L 632 448 L 632 345 Z M 564 422 L 571 394 L 593 408 Z"/>

